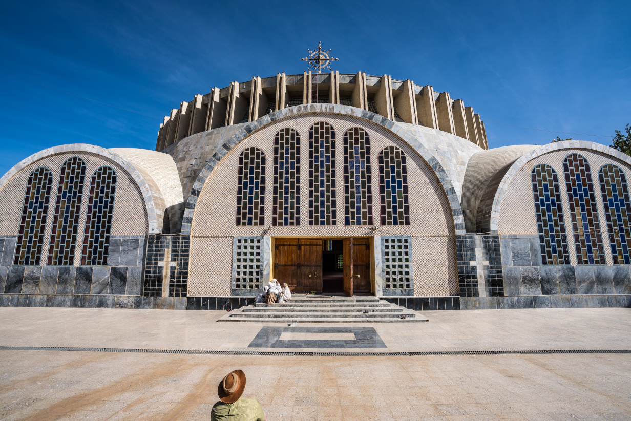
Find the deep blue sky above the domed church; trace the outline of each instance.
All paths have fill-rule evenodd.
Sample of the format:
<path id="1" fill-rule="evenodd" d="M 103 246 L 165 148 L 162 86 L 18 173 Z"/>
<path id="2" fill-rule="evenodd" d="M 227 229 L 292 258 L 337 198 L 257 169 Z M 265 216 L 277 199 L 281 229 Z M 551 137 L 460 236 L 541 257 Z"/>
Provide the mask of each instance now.
<path id="1" fill-rule="evenodd" d="M 177 3 L 3 2 L 0 174 L 66 143 L 153 150 L 181 101 L 302 73 L 300 57 L 319 40 L 340 73 L 410 78 L 462 98 L 492 148 L 557 133 L 490 121 L 604 134 L 558 136 L 605 145 L 631 123 L 630 1 Z"/>

